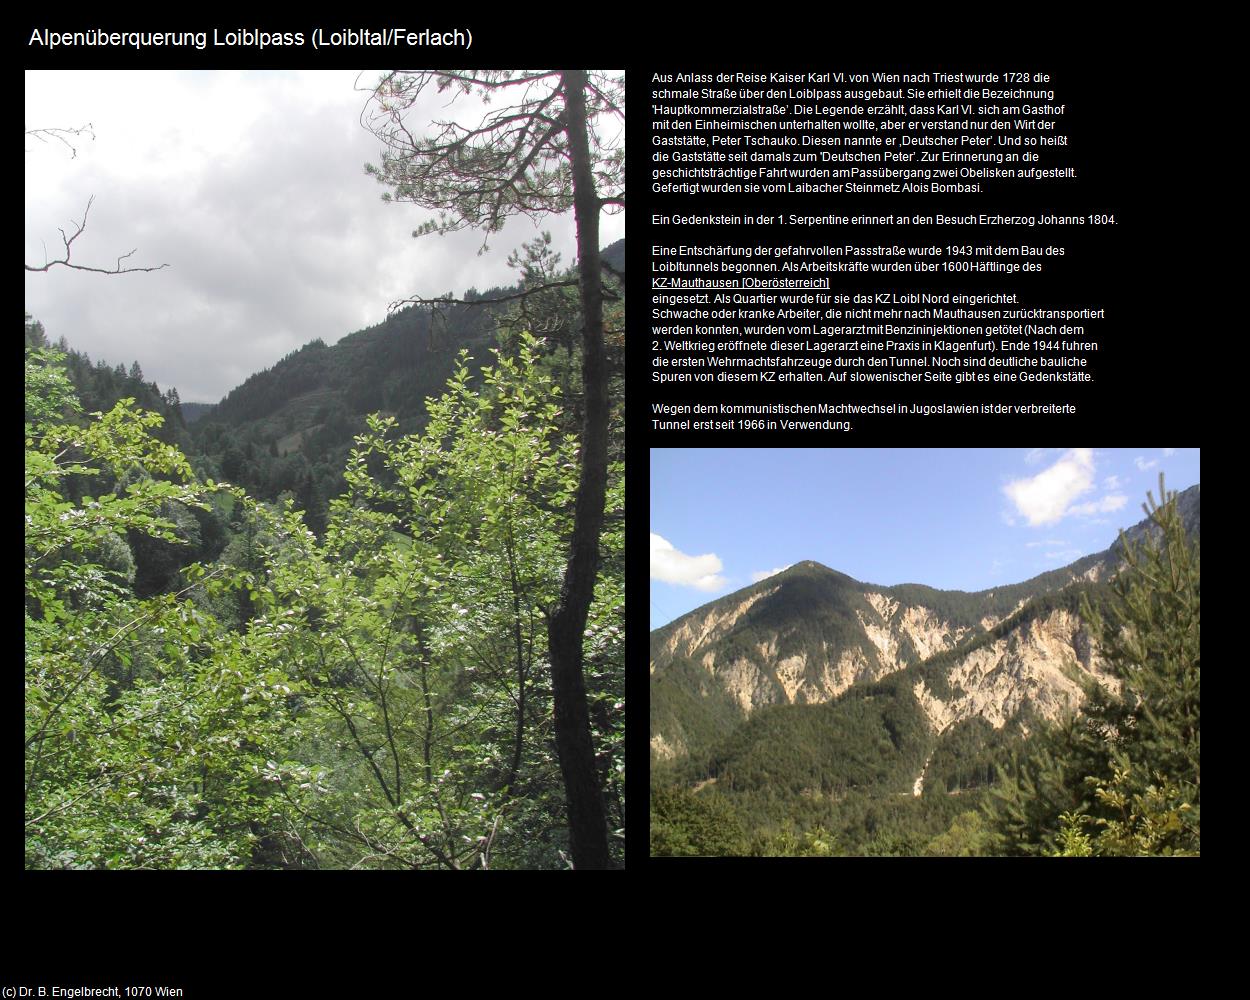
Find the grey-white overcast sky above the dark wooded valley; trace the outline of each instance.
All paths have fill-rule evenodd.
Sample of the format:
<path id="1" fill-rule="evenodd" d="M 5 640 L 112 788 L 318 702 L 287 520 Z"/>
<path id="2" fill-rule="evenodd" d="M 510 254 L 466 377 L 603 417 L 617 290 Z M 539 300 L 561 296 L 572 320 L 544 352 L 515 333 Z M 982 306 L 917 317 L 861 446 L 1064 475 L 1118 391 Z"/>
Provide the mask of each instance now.
<path id="1" fill-rule="evenodd" d="M 95 139 L 71 156 L 26 136 L 26 262 L 42 264 L 45 245 L 60 256 L 58 230 L 72 232 L 94 196 L 75 262 L 111 268 L 138 249 L 129 262 L 169 268 L 28 274 L 26 311 L 92 360 L 138 360 L 184 401 L 215 402 L 315 338 L 380 322 L 396 299 L 512 284 L 509 251 L 538 231 L 526 220 L 478 256 L 480 234 L 414 240 L 425 212 L 381 201 L 356 89 L 379 76 L 28 72 L 28 130 L 90 122 Z M 431 98 L 430 116 L 445 102 Z M 571 215 L 540 229 L 571 264 Z M 604 245 L 624 235 L 624 215 L 602 218 Z"/>

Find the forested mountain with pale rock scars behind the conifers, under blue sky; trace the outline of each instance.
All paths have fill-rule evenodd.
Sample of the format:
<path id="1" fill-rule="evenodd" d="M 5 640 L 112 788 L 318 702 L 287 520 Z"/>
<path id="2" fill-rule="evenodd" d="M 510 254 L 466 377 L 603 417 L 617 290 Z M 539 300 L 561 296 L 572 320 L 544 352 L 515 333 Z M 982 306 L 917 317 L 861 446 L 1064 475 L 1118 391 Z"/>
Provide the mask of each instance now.
<path id="1" fill-rule="evenodd" d="M 1200 488 L 1176 510 L 1196 539 Z M 1158 534 L 1144 521 L 1125 538 Z M 975 810 L 1031 734 L 1120 691 L 1082 608 L 1110 605 L 1122 551 L 975 594 L 800 562 L 655 630 L 652 849 L 700 852 L 674 830 L 719 802 L 730 811 L 712 826 L 739 831 L 720 852 L 748 852 L 751 831 L 778 852 L 798 829 L 839 829 L 851 852 L 916 852 L 956 815 L 935 795 Z M 918 840 L 882 841 L 900 829 Z"/>

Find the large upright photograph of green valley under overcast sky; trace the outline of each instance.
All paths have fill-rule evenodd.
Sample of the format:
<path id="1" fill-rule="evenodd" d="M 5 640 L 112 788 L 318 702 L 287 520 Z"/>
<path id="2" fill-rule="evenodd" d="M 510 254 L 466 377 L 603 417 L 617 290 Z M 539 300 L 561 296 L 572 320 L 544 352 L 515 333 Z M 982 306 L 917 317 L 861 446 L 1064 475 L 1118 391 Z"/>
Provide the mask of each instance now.
<path id="1" fill-rule="evenodd" d="M 25 868 L 625 865 L 625 74 L 28 71 Z"/>

